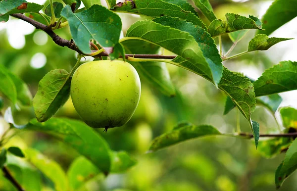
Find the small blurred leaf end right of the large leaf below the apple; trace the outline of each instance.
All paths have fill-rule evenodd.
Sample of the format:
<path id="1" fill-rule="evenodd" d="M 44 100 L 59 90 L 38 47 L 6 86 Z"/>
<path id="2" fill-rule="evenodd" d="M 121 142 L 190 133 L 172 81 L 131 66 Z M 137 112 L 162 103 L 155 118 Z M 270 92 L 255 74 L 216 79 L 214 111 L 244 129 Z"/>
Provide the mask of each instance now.
<path id="1" fill-rule="evenodd" d="M 132 166 L 136 165 L 137 161 L 129 156 L 125 151 L 111 153 L 111 172 L 122 173 L 127 171 Z"/>

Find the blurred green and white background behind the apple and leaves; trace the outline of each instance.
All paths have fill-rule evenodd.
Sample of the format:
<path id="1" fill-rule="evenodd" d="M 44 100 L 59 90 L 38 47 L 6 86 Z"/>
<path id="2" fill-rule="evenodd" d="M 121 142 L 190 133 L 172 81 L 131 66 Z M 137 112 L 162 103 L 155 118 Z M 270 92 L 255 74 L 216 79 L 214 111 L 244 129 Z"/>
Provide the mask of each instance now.
<path id="1" fill-rule="evenodd" d="M 30 0 L 28 0 L 30 2 Z M 43 3 L 42 0 L 35 2 Z M 33 2 L 31 0 L 31 2 Z M 211 0 L 218 18 L 224 18 L 226 12 L 247 16 L 264 14 L 272 1 L 267 0 Z M 120 14 L 123 32 L 140 16 Z M 203 17 L 202 17 L 203 18 Z M 207 23 L 206 19 L 204 21 Z M 271 36 L 297 38 L 297 20 L 277 30 Z M 69 28 L 59 29 L 56 33 L 71 39 Z M 254 31 L 250 30 L 237 45 L 232 54 L 245 51 Z M 217 39 L 216 39 L 217 40 Z M 232 41 L 223 36 L 223 48 L 226 52 Z M 242 72 L 256 79 L 261 73 L 282 60 L 296 61 L 297 41 L 288 41 L 270 48 L 266 52 L 252 52 L 237 59 L 224 62 L 233 71 Z M 170 54 L 170 52 L 166 52 Z M 82 61 L 90 61 L 86 57 Z M 70 71 L 76 62 L 73 50 L 55 45 L 47 34 L 24 21 L 10 18 L 0 23 L 0 64 L 18 75 L 35 95 L 38 82 L 50 70 L 63 68 Z M 274 173 L 284 154 L 273 159 L 262 157 L 255 150 L 252 141 L 231 137 L 206 137 L 187 141 L 162 149 L 155 153 L 146 153 L 150 141 L 170 131 L 178 122 L 190 121 L 195 125 L 210 124 L 221 132 L 233 133 L 236 129 L 238 111 L 233 109 L 223 115 L 226 95 L 211 83 L 176 66 L 168 65 L 171 79 L 176 87 L 175 97 L 163 96 L 146 79 L 142 80 L 142 96 L 138 109 L 132 119 L 123 127 L 98 133 L 109 143 L 113 150 L 126 150 L 138 160 L 138 164 L 123 174 L 111 174 L 106 179 L 101 176 L 91 179 L 86 190 L 89 191 L 274 191 Z M 280 94 L 282 106 L 297 106 L 297 92 Z M 277 112 L 277 119 L 279 114 Z M 34 118 L 33 108 L 22 108 L 17 114 L 19 124 Z M 71 99 L 57 112 L 56 116 L 79 119 Z M 252 115 L 260 123 L 262 133 L 277 133 L 278 125 L 274 117 L 263 107 L 257 107 Z M 281 122 L 280 122 L 281 123 Z M 280 124 L 281 126 L 282 124 Z M 249 132 L 249 126 L 240 116 L 242 131 Z M 7 124 L 0 117 L 0 133 Z M 41 151 L 57 161 L 65 171 L 78 153 L 69 146 L 58 142 L 49 135 L 22 132 L 13 140 L 16 144 L 26 144 Z M 102 161 L 104 162 L 104 161 Z M 83 168 L 83 167 L 82 167 Z M 25 176 L 25 175 L 24 175 Z M 297 174 L 293 174 L 280 191 L 297 190 Z M 35 181 L 37 179 L 28 179 Z M 39 179 L 38 179 L 39 180 Z M 45 176 L 44 191 L 53 191 L 53 185 Z M 0 191 L 15 189 L 3 177 L 0 178 Z"/>

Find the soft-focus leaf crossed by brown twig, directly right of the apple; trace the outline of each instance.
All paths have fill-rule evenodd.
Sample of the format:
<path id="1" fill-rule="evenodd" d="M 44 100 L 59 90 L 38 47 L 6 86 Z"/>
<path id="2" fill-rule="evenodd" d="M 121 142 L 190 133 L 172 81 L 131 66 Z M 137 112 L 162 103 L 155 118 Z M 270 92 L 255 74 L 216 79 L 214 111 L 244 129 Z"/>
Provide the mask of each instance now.
<path id="1" fill-rule="evenodd" d="M 155 54 L 159 47 L 140 40 L 129 40 L 122 42 L 129 54 Z M 139 48 L 141 47 L 141 48 Z M 162 94 L 174 96 L 175 88 L 170 79 L 166 64 L 162 62 L 132 62 L 129 61 L 137 72 L 155 86 Z"/>

